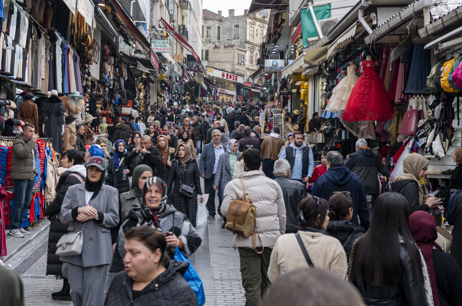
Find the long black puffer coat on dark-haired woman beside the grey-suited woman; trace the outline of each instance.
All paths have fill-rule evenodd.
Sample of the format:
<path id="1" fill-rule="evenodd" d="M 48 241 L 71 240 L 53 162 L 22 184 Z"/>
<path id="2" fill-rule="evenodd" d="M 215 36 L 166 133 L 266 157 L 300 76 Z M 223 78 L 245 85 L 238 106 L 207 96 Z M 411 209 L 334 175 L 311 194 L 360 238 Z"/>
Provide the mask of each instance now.
<path id="1" fill-rule="evenodd" d="M 85 171 L 85 167 L 82 166 L 82 168 Z M 71 173 L 73 173 L 73 175 L 69 176 Z M 75 176 L 79 176 L 82 179 L 82 182 L 85 182 L 85 177 L 79 172 L 65 171 L 61 174 L 55 188 L 55 200 L 53 200 L 53 202 L 47 206 L 45 212 L 43 212 L 45 216 L 49 216 L 49 220 L 51 221 L 50 231 L 48 234 L 47 275 L 62 275 L 62 261 L 59 259 L 59 256 L 55 255 L 56 243 L 64 234 L 67 234 L 69 223 L 61 223 L 59 214 L 61 212 L 61 205 L 64 200 L 64 196 L 66 195 L 67 188 L 81 183 Z"/>

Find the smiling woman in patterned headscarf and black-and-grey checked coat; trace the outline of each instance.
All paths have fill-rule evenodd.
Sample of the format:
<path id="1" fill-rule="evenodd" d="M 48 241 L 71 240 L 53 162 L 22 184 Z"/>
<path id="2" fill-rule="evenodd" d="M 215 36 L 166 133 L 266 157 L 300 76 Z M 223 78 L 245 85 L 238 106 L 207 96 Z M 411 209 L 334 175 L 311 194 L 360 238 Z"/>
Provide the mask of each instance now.
<path id="1" fill-rule="evenodd" d="M 161 195 L 160 200 L 158 196 L 155 196 L 156 194 Z M 185 256 L 190 256 L 201 245 L 201 237 L 188 218 L 167 203 L 165 182 L 158 177 L 150 177 L 142 189 L 141 207 L 134 207 L 130 210 L 127 220 L 119 230 L 104 292 L 107 293 L 114 276 L 124 270 L 125 234 L 131 228 L 140 225 L 160 230 L 165 235 L 167 244 L 178 247 Z"/>

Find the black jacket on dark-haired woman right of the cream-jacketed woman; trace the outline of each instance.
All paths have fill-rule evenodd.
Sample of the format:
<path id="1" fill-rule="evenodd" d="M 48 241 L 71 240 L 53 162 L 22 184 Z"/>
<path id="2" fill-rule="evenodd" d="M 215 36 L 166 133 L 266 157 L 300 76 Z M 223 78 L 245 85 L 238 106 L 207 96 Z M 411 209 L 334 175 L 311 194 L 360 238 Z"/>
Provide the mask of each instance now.
<path id="1" fill-rule="evenodd" d="M 354 241 L 361 237 L 365 230 L 361 226 L 353 224 L 347 220 L 329 220 L 327 232 L 329 233 L 329 235 L 337 238 L 340 241 L 340 243 L 343 246 L 343 249 L 345 250 L 346 259 L 349 260 L 351 247 L 353 247 Z"/>

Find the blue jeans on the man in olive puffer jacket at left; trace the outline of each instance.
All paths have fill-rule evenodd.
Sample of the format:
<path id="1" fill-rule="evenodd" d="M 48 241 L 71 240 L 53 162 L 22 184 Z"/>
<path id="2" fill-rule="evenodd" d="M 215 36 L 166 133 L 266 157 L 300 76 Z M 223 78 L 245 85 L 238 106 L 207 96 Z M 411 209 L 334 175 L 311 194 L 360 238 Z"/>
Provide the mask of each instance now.
<path id="1" fill-rule="evenodd" d="M 30 206 L 32 191 L 34 189 L 35 175 L 31 180 L 12 180 L 14 185 L 14 205 L 11 213 L 10 229 L 20 229 L 22 222 L 27 213 L 27 207 Z"/>

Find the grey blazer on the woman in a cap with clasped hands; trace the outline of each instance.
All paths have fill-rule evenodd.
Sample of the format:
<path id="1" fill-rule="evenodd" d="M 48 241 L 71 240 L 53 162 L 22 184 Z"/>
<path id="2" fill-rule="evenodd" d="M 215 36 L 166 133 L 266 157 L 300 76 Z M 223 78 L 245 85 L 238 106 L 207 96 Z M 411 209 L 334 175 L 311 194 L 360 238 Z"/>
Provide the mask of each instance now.
<path id="1" fill-rule="evenodd" d="M 61 261 L 83 267 L 109 265 L 112 260 L 111 229 L 119 224 L 119 199 L 117 189 L 103 185 L 101 194 L 93 205 L 98 212 L 103 213 L 103 222 L 97 224 L 94 219 L 88 220 L 83 231 L 82 253 L 75 256 L 60 257 Z M 90 200 L 90 204 L 93 200 Z M 62 223 L 71 222 L 67 230 L 77 232 L 82 230 L 84 222 L 72 218 L 75 207 L 85 206 L 85 183 L 73 185 L 67 189 L 62 202 L 59 218 Z"/>

